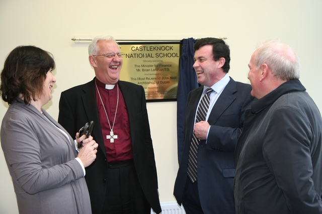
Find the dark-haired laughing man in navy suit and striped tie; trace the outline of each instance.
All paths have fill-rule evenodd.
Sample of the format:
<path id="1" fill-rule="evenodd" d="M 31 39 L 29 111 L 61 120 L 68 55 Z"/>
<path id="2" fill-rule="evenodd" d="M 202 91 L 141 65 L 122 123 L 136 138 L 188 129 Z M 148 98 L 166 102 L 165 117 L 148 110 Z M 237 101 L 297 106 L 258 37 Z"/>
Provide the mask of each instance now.
<path id="1" fill-rule="evenodd" d="M 228 76 L 230 51 L 223 40 L 200 39 L 194 50 L 193 67 L 203 86 L 188 95 L 174 195 L 187 214 L 233 214 L 234 149 L 244 112 L 252 102 L 252 88 Z M 209 88 L 209 108 L 199 120 L 198 108 L 204 106 L 203 97 Z"/>

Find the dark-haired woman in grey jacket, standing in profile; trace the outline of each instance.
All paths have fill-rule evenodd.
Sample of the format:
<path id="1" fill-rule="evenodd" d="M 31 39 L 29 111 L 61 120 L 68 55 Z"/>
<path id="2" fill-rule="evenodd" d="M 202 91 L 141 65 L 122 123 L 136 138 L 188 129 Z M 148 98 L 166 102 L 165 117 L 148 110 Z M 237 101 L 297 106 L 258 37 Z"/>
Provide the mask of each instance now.
<path id="1" fill-rule="evenodd" d="M 34 46 L 15 48 L 1 73 L 0 94 L 9 104 L 1 146 L 12 176 L 19 213 L 91 213 L 85 168 L 96 158 L 92 137 L 75 143 L 42 106 L 56 82 L 51 54 Z"/>

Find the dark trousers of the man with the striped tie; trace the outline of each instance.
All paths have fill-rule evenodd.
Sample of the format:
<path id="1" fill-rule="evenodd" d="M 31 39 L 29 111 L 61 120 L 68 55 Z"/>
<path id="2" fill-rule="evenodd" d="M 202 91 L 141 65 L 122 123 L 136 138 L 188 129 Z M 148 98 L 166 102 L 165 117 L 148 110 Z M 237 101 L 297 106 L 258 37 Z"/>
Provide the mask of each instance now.
<path id="1" fill-rule="evenodd" d="M 192 183 L 188 176 L 182 197 L 182 205 L 187 214 L 204 214 L 199 199 L 198 182 Z"/>

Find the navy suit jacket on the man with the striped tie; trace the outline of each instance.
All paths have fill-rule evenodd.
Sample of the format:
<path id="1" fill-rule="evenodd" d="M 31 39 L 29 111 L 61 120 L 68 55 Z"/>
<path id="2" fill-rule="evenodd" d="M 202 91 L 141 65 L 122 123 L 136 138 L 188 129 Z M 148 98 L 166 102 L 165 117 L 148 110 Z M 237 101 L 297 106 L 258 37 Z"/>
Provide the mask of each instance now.
<path id="1" fill-rule="evenodd" d="M 207 143 L 198 147 L 197 176 L 201 207 L 205 214 L 233 214 L 234 150 L 243 124 L 245 110 L 253 98 L 249 84 L 232 78 L 223 89 L 208 118 L 211 125 Z M 184 130 L 183 153 L 175 182 L 174 195 L 182 203 L 187 180 L 187 164 L 195 115 L 203 86 L 188 95 Z"/>

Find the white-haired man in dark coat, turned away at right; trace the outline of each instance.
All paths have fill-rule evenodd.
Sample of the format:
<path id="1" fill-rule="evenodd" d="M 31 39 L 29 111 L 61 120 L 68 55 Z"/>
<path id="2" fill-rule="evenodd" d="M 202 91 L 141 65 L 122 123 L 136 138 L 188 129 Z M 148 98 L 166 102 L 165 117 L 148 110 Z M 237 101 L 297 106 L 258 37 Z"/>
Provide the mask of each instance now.
<path id="1" fill-rule="evenodd" d="M 258 100 L 236 144 L 235 213 L 322 213 L 322 119 L 298 80 L 298 57 L 267 41 L 249 68 Z"/>

